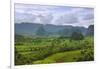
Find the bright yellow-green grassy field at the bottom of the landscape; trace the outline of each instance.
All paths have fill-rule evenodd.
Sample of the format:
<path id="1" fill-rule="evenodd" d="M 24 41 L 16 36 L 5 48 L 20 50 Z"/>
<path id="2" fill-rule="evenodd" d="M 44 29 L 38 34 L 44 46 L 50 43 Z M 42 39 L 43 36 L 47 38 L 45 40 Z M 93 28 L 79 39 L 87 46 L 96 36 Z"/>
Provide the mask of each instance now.
<path id="1" fill-rule="evenodd" d="M 43 60 L 35 61 L 33 64 L 75 62 L 79 56 L 81 56 L 80 50 L 56 53 Z"/>

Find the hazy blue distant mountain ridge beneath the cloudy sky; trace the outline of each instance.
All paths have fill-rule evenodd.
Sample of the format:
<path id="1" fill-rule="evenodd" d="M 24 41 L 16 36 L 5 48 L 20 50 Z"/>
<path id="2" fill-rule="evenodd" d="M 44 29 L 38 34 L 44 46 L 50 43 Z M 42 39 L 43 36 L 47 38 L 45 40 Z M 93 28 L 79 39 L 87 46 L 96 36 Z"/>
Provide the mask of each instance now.
<path id="1" fill-rule="evenodd" d="M 88 28 L 71 25 L 15 23 L 15 34 L 27 36 L 70 36 L 72 32 L 86 35 Z"/>

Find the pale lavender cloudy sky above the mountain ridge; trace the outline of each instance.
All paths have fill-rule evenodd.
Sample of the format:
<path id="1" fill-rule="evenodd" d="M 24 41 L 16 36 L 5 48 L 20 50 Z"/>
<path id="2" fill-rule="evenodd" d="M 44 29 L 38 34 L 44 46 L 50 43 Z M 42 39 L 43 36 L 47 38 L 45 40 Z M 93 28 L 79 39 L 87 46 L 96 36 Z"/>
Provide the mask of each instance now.
<path id="1" fill-rule="evenodd" d="M 94 9 L 86 7 L 15 4 L 15 23 L 39 23 L 88 27 L 94 23 Z"/>

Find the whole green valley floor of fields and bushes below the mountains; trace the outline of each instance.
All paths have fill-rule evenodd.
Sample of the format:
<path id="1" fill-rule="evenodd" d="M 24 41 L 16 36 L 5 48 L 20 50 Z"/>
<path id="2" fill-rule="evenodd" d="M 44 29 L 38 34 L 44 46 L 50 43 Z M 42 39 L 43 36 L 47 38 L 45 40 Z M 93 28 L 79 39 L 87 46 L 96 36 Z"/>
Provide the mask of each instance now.
<path id="1" fill-rule="evenodd" d="M 15 35 L 15 65 L 94 60 L 93 37 L 30 38 Z"/>

